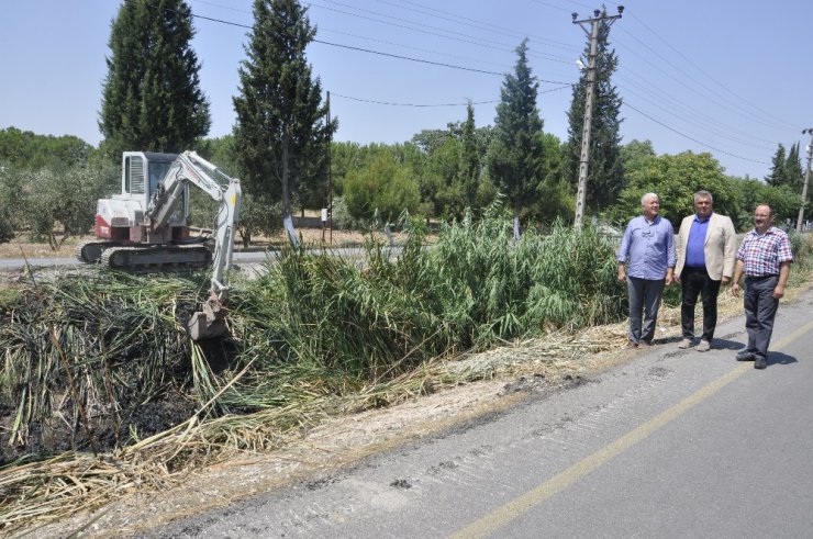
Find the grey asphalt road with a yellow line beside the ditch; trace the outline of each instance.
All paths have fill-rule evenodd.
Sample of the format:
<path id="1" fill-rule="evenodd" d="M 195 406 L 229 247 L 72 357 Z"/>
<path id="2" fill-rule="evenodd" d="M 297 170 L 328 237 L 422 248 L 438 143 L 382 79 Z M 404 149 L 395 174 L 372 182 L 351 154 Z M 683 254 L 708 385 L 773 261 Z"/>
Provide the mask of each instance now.
<path id="1" fill-rule="evenodd" d="M 141 537 L 810 537 L 813 292 L 769 366 L 677 339 L 587 383 Z"/>

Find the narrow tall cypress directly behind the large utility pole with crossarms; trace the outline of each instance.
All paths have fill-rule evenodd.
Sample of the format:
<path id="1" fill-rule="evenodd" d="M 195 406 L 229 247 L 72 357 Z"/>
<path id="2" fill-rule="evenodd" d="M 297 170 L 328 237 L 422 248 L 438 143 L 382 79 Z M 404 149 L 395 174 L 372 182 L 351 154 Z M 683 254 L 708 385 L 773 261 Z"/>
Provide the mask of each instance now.
<path id="1" fill-rule="evenodd" d="M 606 12 L 603 13 L 606 15 Z M 587 178 L 587 207 L 593 213 L 612 204 L 624 189 L 624 166 L 621 158 L 622 99 L 612 83 L 612 75 L 619 65 L 615 50 L 609 48 L 610 25 L 599 23 L 599 40 L 595 55 L 593 114 L 590 125 L 590 148 Z M 590 54 L 590 42 L 586 46 Z M 568 143 L 566 173 L 573 186 L 578 183 L 581 160 L 581 139 L 584 128 L 584 100 L 587 96 L 588 72 L 582 72 L 573 86 L 573 97 L 568 112 Z"/>

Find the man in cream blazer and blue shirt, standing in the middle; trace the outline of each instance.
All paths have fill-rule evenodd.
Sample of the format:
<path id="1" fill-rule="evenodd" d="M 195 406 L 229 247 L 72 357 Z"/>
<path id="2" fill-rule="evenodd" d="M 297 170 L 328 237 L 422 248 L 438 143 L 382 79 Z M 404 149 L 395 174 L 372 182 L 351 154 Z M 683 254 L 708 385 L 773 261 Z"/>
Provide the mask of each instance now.
<path id="1" fill-rule="evenodd" d="M 683 340 L 679 348 L 689 348 L 694 339 L 694 305 L 703 302 L 703 333 L 698 351 L 711 348 L 717 325 L 717 294 L 727 284 L 736 265 L 737 238 L 731 217 L 713 211 L 714 199 L 709 191 L 694 193 L 694 215 L 683 218 L 678 233 L 678 260 L 675 278 L 682 285 L 680 322 Z"/>

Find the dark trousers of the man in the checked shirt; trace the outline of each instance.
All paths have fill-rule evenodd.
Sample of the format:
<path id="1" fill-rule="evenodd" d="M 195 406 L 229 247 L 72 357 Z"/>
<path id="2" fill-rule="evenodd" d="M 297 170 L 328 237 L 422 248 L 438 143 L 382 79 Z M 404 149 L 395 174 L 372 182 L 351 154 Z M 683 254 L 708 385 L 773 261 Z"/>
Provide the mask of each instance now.
<path id="1" fill-rule="evenodd" d="M 745 294 L 745 328 L 748 330 L 747 350 L 764 358 L 768 357 L 768 344 L 773 333 L 773 318 L 777 316 L 779 300 L 773 297 L 773 289 L 779 278 L 746 277 Z"/>

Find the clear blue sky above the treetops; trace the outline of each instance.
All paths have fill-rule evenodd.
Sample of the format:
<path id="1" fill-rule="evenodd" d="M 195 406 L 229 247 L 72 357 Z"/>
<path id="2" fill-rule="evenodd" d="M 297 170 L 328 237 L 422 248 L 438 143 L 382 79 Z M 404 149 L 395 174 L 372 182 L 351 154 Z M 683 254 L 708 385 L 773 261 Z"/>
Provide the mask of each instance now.
<path id="1" fill-rule="evenodd" d="M 234 123 L 232 96 L 253 2 L 188 1 L 199 15 L 192 45 L 211 104 L 209 136 L 222 136 Z M 610 41 L 620 58 L 614 82 L 625 101 L 624 143 L 649 139 L 658 154 L 710 151 L 726 172 L 756 178 L 768 172 L 777 144 L 801 142 L 804 154 L 809 138 L 801 132 L 813 127 L 813 2 L 623 3 Z M 571 92 L 563 86 L 578 79 L 576 59 L 587 42 L 570 13 L 587 18 L 601 5 L 568 0 L 303 4 L 319 30 L 308 59 L 331 92 L 332 115 L 339 120 L 336 139 L 361 144 L 405 142 L 421 130 L 463 121 L 467 100 L 477 103 L 478 126 L 493 124 L 503 74 L 513 70 L 514 49 L 524 37 L 541 81 L 545 131 L 565 139 Z M 0 0 L 0 128 L 98 144 L 110 23 L 120 2 Z M 611 13 L 616 5 L 606 2 Z"/>

